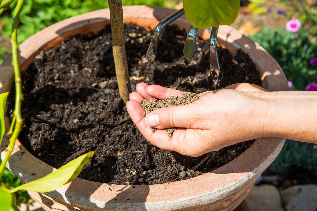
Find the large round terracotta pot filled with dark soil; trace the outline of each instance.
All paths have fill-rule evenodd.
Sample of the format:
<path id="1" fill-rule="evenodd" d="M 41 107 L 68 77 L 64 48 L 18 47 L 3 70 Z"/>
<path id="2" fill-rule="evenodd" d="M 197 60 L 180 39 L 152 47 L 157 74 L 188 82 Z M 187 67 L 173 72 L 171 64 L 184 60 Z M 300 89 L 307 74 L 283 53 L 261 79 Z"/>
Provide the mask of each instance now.
<path id="1" fill-rule="evenodd" d="M 173 9 L 129 6 L 123 9 L 124 21 L 154 28 Z M 20 46 L 21 70 L 25 70 L 41 49 L 49 49 L 75 34 L 96 33 L 109 24 L 109 10 L 102 9 L 56 23 L 24 41 Z M 184 16 L 175 21 L 188 29 Z M 209 39 L 209 31 L 201 32 Z M 232 53 L 239 48 L 249 53 L 261 72 L 263 87 L 269 90 L 288 90 L 287 80 L 276 61 L 258 44 L 236 29 L 221 26 L 218 41 Z M 128 49 L 127 49 L 128 50 Z M 10 56 L 0 66 L 0 93 L 10 90 L 13 83 Z M 5 127 L 9 129 L 9 119 Z M 184 181 L 157 185 L 107 185 L 76 178 L 49 193 L 29 192 L 46 210 L 233 210 L 255 183 L 257 177 L 273 162 L 284 139 L 260 138 L 230 163 L 210 173 Z M 2 158 L 8 137 L 2 141 Z M 7 166 L 24 183 L 54 171 L 50 165 L 31 155 L 19 141 Z"/>

